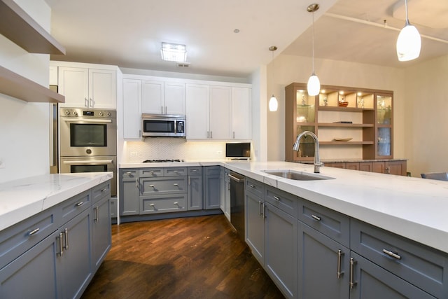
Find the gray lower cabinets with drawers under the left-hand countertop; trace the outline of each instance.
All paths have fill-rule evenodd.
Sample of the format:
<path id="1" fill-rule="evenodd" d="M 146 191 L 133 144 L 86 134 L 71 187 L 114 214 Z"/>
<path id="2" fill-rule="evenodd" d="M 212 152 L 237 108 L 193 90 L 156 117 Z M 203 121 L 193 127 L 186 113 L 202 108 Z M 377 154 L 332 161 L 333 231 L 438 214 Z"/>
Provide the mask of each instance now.
<path id="1" fill-rule="evenodd" d="M 0 298 L 80 298 L 111 246 L 109 198 L 107 182 L 1 231 Z"/>

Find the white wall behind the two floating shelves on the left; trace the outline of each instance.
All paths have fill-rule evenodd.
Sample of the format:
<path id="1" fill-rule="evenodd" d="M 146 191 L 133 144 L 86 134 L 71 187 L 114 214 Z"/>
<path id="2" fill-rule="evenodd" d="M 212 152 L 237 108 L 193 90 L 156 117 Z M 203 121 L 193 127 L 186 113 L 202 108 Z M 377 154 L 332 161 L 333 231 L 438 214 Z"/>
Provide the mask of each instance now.
<path id="1" fill-rule="evenodd" d="M 50 31 L 51 11 L 43 0 L 16 0 Z M 31 54 L 0 35 L 0 65 L 48 86 L 49 55 Z M 50 105 L 0 95 L 0 182 L 49 172 Z"/>

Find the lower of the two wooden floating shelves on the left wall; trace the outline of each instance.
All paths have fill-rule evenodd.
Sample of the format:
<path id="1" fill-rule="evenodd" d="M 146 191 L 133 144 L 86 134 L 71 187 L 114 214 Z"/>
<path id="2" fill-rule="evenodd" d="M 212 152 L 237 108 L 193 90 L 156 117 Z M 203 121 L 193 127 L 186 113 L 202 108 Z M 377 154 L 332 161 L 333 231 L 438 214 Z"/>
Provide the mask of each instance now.
<path id="1" fill-rule="evenodd" d="M 0 67 L 0 93 L 26 102 L 64 103 L 65 97 L 13 71 Z"/>

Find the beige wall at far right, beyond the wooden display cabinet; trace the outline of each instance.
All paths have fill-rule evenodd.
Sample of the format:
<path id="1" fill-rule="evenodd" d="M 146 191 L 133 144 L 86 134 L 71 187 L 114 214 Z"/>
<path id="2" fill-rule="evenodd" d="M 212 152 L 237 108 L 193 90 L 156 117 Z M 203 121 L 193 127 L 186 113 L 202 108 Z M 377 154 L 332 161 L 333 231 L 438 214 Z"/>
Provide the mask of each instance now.
<path id="1" fill-rule="evenodd" d="M 405 153 L 412 176 L 448 171 L 448 55 L 405 75 Z"/>

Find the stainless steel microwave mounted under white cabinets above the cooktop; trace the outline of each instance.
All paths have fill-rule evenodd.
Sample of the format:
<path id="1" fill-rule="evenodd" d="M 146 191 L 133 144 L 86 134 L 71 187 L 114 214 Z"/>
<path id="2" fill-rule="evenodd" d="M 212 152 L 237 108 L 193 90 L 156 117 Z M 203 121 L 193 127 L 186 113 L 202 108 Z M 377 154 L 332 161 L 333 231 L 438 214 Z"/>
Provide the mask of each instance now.
<path id="1" fill-rule="evenodd" d="M 186 137 L 186 116 L 142 114 L 143 137 Z"/>

